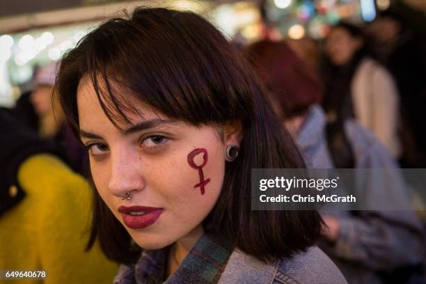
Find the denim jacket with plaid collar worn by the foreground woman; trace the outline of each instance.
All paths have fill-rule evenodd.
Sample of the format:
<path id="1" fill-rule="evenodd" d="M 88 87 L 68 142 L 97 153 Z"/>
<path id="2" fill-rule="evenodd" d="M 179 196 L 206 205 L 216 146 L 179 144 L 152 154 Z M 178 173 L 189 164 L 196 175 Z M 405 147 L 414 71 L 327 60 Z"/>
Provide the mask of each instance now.
<path id="1" fill-rule="evenodd" d="M 317 247 L 290 259 L 265 263 L 238 248 L 203 235 L 178 270 L 164 281 L 168 248 L 143 251 L 136 264 L 122 265 L 113 284 L 345 284 L 336 265 Z"/>

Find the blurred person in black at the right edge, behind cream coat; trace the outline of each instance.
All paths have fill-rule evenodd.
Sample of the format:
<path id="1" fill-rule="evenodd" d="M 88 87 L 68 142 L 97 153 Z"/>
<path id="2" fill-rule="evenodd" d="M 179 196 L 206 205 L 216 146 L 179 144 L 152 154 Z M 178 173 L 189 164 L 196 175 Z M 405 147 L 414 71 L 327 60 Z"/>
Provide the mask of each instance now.
<path id="1" fill-rule="evenodd" d="M 388 8 L 368 24 L 375 54 L 393 75 L 400 94 L 406 167 L 425 167 L 426 40 L 404 22 L 395 8 Z"/>

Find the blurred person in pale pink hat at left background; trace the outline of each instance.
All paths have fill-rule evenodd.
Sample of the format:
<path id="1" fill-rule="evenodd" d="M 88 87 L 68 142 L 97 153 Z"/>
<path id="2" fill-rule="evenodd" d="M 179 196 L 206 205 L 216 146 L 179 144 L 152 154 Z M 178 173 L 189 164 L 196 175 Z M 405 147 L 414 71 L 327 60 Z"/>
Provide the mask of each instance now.
<path id="1" fill-rule="evenodd" d="M 50 63 L 38 68 L 34 76 L 36 87 L 30 95 L 30 101 L 39 118 L 38 134 L 42 139 L 54 141 L 67 164 L 77 173 L 86 176 L 87 153 L 65 125 L 63 111 L 53 100 L 57 69 L 57 63 Z"/>

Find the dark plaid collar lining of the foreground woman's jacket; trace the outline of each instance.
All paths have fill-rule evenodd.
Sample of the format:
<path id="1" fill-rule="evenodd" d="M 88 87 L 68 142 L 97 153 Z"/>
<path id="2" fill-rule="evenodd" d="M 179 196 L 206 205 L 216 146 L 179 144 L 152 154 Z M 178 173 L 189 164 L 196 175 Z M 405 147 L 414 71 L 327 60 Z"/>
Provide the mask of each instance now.
<path id="1" fill-rule="evenodd" d="M 134 267 L 134 280 L 137 284 L 215 284 L 221 278 L 232 251 L 232 246 L 221 244 L 211 235 L 203 235 L 165 282 L 168 248 L 143 251 Z"/>

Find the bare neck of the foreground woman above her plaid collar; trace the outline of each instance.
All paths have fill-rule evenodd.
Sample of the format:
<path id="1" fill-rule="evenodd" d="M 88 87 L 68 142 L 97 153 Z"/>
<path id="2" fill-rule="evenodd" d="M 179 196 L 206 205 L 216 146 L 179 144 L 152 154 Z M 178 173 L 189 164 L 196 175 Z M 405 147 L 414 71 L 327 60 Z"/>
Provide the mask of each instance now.
<path id="1" fill-rule="evenodd" d="M 189 251 L 191 251 L 194 244 L 198 242 L 198 239 L 200 239 L 203 233 L 203 226 L 199 225 L 171 245 L 171 248 L 168 251 L 167 277 L 175 273 L 180 263 L 188 255 Z"/>

